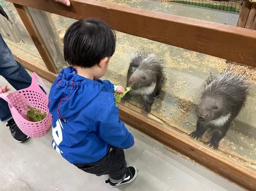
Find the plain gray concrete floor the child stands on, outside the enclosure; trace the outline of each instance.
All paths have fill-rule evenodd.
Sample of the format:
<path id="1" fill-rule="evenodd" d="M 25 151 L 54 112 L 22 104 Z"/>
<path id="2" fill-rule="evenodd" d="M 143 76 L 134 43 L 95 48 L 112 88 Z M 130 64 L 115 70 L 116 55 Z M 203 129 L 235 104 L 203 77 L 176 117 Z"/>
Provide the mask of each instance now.
<path id="1" fill-rule="evenodd" d="M 0 84 L 7 82 L 0 76 Z M 48 88 L 50 83 L 45 82 Z M 11 89 L 13 91 L 13 88 Z M 107 191 L 107 176 L 86 174 L 65 161 L 51 147 L 51 132 L 18 143 L 0 123 L 0 191 Z M 242 188 L 172 152 L 128 127 L 136 144 L 125 150 L 128 165 L 139 169 L 136 180 L 115 190 L 240 191 Z"/>

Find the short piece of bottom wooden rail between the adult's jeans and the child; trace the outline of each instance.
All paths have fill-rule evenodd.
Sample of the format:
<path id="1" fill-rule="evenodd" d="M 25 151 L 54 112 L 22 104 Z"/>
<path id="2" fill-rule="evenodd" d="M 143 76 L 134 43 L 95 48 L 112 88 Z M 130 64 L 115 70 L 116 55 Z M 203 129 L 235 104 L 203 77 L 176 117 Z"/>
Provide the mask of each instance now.
<path id="1" fill-rule="evenodd" d="M 17 52 L 12 50 L 12 54 L 15 60 L 20 62 L 25 69 L 31 71 L 31 72 L 36 72 L 39 76 L 43 77 L 45 80 L 53 83 L 54 80 L 57 78 L 57 74 L 54 74 L 52 72 L 49 72 L 46 67 L 43 67 L 21 55 L 19 55 Z"/>

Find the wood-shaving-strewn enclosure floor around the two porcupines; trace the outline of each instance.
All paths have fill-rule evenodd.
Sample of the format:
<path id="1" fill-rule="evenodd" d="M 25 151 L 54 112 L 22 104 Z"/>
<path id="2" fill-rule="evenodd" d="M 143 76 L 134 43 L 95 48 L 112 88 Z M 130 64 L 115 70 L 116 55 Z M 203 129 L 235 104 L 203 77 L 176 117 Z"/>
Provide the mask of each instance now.
<path id="1" fill-rule="evenodd" d="M 238 15 L 234 13 L 195 7 L 188 8 L 184 5 L 164 4 L 158 1 L 106 0 L 106 2 L 168 12 L 171 14 L 176 13 L 176 15 L 188 16 L 196 19 L 204 18 L 205 20 L 219 23 L 227 23 L 228 21 L 228 24 L 232 25 L 236 25 L 238 18 Z M 150 6 L 150 3 L 148 2 L 151 2 L 152 5 Z M 178 6 L 180 9 L 174 9 L 172 6 L 176 8 Z M 201 9 L 201 12 L 197 13 L 197 10 L 199 9 Z M 186 10 L 190 10 L 190 13 L 187 13 Z M 205 12 L 211 12 L 211 17 L 204 14 Z M 66 29 L 75 22 L 75 20 L 55 14 L 51 15 L 59 35 L 63 39 Z M 225 19 L 222 18 L 223 15 Z M 160 97 L 153 103 L 152 111 L 148 117 L 152 120 L 161 122 L 166 128 L 170 129 L 175 127 L 176 130 L 182 131 L 189 136 L 189 134 L 196 128 L 197 116 L 195 105 L 199 103 L 205 80 L 207 79 L 209 72 L 219 75 L 222 70 L 227 67 L 227 64 L 225 63 L 226 60 L 127 35 L 121 32 L 116 32 L 116 35 L 116 51 L 111 58 L 109 69 L 103 79 L 108 79 L 112 83 L 120 84 L 125 87 L 126 74 L 133 53 L 142 49 L 152 51 L 157 58 L 164 59 L 164 71 L 167 75 L 167 83 L 162 88 Z M 235 65 L 235 72 L 239 72 L 239 69 L 245 69 L 247 70 L 247 73 L 252 74 L 249 80 L 253 84 L 256 84 L 256 70 L 254 68 Z M 216 151 L 235 160 L 239 164 L 249 166 L 253 169 L 256 169 L 255 96 L 256 86 L 253 86 L 245 107 L 231 124 L 226 136 L 220 142 L 219 150 Z M 143 102 L 142 100 L 133 97 L 126 106 L 141 112 Z M 206 144 L 209 141 L 209 138 L 211 138 L 210 132 L 207 131 L 200 142 Z"/>

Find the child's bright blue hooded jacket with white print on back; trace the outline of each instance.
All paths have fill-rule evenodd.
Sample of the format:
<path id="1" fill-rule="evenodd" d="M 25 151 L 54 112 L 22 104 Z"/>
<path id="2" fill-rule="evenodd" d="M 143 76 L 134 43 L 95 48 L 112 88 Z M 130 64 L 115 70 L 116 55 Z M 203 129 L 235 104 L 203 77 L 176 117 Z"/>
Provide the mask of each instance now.
<path id="1" fill-rule="evenodd" d="M 119 120 L 114 85 L 89 80 L 63 69 L 52 84 L 49 110 L 53 116 L 52 146 L 70 163 L 103 158 L 109 145 L 129 148 L 134 138 Z"/>

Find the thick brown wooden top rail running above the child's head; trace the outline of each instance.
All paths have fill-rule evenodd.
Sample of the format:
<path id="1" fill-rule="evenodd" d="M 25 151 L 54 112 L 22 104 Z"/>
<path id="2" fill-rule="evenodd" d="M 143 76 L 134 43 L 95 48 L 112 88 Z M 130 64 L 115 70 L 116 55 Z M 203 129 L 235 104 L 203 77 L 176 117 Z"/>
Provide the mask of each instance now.
<path id="1" fill-rule="evenodd" d="M 73 19 L 97 17 L 116 31 L 256 67 L 256 31 L 94 0 L 7 0 Z"/>

